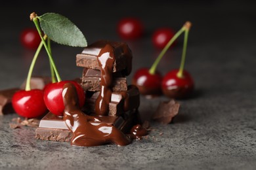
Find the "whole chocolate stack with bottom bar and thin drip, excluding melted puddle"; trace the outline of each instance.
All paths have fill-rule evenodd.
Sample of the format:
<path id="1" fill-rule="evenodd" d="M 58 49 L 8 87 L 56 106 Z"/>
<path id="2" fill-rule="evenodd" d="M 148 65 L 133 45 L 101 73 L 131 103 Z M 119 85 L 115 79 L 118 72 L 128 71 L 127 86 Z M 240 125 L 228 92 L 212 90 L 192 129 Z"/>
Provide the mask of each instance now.
<path id="1" fill-rule="evenodd" d="M 111 46 L 112 52 L 106 50 Z M 102 50 L 104 54 L 102 54 Z M 110 53 L 113 53 L 109 55 Z M 100 56 L 101 55 L 101 56 Z M 108 56 L 107 58 L 104 57 Z M 112 58 L 113 57 L 113 58 Z M 106 59 L 114 59 L 111 63 L 112 70 L 108 71 Z M 123 133 L 128 133 L 137 120 L 137 110 L 140 105 L 139 89 L 134 85 L 127 85 L 125 76 L 131 73 L 132 54 L 129 46 L 124 42 L 96 41 L 87 46 L 81 54 L 76 56 L 76 64 L 83 67 L 80 83 L 85 90 L 86 101 L 83 112 L 90 116 L 99 117 L 102 124 L 109 124 L 117 127 Z M 111 73 L 105 73 L 105 72 Z M 104 84 L 110 82 L 109 96 L 103 97 L 102 89 Z M 107 101 L 106 114 L 98 114 L 96 105 L 101 105 L 98 98 Z M 108 98 L 108 99 L 107 99 Z M 98 102 L 98 103 L 97 103 Z M 93 123 L 92 123 L 93 124 Z M 36 138 L 51 141 L 70 141 L 72 133 L 68 131 L 62 118 L 47 114 L 40 122 L 36 130 Z"/>

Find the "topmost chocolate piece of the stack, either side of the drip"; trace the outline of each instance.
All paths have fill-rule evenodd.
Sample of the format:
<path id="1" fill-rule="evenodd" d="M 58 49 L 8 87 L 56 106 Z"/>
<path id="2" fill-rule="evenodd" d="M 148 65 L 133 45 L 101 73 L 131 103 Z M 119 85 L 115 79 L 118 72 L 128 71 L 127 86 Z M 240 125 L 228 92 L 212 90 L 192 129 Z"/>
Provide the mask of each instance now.
<path id="1" fill-rule="evenodd" d="M 125 70 L 125 75 L 129 75 L 131 73 L 132 54 L 129 46 L 127 46 L 125 42 L 97 41 L 85 47 L 81 54 L 77 54 L 76 65 L 79 67 L 100 70 L 97 57 L 100 50 L 106 44 L 110 44 L 114 47 L 116 60 L 114 61 L 113 72 Z"/>

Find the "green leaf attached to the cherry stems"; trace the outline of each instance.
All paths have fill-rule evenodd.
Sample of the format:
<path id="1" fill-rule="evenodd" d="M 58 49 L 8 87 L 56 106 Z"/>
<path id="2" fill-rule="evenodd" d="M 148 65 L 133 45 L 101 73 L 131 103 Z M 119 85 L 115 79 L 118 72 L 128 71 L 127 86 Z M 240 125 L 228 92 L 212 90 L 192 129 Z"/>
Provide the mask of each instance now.
<path id="1" fill-rule="evenodd" d="M 87 46 L 83 33 L 65 16 L 46 13 L 38 18 L 43 32 L 51 40 L 68 46 Z"/>

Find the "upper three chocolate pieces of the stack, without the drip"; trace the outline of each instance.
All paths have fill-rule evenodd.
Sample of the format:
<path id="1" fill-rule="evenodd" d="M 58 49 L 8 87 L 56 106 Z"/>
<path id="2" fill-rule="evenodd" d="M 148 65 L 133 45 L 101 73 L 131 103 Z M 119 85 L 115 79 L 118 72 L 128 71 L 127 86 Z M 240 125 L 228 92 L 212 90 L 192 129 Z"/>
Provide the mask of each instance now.
<path id="1" fill-rule="evenodd" d="M 85 48 L 81 54 L 77 54 L 77 66 L 83 67 L 81 86 L 87 93 L 85 112 L 95 113 L 95 101 L 100 94 L 102 82 L 97 58 L 100 50 L 106 44 L 110 44 L 114 48 L 115 56 L 114 67 L 112 69 L 112 84 L 110 85 L 112 95 L 108 105 L 108 116 L 122 116 L 129 110 L 137 109 L 140 104 L 137 87 L 133 85 L 127 86 L 125 76 L 131 73 L 132 54 L 129 46 L 124 42 L 97 41 Z M 127 96 L 129 96 L 129 99 L 126 99 L 127 103 L 125 103 L 125 97 Z"/>

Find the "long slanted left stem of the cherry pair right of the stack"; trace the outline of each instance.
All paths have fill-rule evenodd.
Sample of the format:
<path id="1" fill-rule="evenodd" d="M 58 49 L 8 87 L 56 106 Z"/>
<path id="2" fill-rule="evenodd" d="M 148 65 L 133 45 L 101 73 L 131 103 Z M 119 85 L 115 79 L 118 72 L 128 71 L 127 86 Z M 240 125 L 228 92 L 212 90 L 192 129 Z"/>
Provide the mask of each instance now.
<path id="1" fill-rule="evenodd" d="M 185 27 L 183 26 L 175 35 L 171 38 L 171 40 L 165 45 L 163 50 L 161 50 L 158 58 L 156 58 L 156 61 L 154 61 L 152 67 L 149 70 L 149 73 L 154 75 L 156 72 L 156 67 L 158 67 L 158 63 L 160 62 L 161 58 L 163 58 L 163 55 L 165 52 L 167 52 L 168 48 L 173 44 L 173 42 L 185 31 Z"/>

